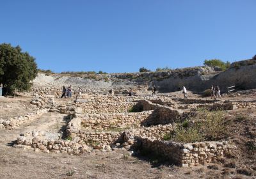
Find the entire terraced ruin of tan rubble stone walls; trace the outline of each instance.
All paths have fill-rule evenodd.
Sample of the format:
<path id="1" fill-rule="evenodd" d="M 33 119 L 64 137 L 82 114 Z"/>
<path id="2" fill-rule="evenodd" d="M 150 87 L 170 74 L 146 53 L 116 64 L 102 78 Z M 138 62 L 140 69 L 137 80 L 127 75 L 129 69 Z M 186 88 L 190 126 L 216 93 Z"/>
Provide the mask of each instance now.
<path id="1" fill-rule="evenodd" d="M 256 103 L 253 102 L 171 99 L 166 96 L 124 97 L 84 94 L 77 97 L 74 102 L 66 104 L 54 104 L 50 98 L 52 97 L 41 94 L 37 101 L 31 102 L 34 105 L 40 102 L 37 109 L 39 112 L 36 112 L 37 116 L 32 115 L 33 119 L 44 113 L 67 114 L 69 120 L 63 134 L 55 137 L 49 137 L 45 131 L 20 134 L 15 147 L 31 148 L 45 153 L 69 154 L 92 150 L 112 151 L 120 148 L 132 153 L 136 152 L 134 148 L 140 148 L 166 157 L 179 166 L 198 166 L 205 162 L 215 162 L 236 150 L 236 146 L 229 144 L 228 141 L 163 141 L 164 134 L 175 129 L 176 123 L 195 115 L 195 109 L 198 107 L 209 110 L 256 107 Z M 15 125 L 11 125 L 13 120 Z M 0 121 L 0 125 L 8 129 L 20 125 L 20 118 L 9 121 Z M 28 122 L 29 116 L 22 121 Z"/>

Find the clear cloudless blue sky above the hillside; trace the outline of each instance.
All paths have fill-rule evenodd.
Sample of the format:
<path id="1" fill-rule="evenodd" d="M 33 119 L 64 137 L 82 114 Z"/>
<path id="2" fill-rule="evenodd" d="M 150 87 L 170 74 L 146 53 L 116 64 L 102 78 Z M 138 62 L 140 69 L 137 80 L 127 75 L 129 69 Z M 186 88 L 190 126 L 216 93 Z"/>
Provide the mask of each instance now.
<path id="1" fill-rule="evenodd" d="M 256 54 L 255 0 L 0 0 L 0 43 L 38 68 L 138 72 Z"/>

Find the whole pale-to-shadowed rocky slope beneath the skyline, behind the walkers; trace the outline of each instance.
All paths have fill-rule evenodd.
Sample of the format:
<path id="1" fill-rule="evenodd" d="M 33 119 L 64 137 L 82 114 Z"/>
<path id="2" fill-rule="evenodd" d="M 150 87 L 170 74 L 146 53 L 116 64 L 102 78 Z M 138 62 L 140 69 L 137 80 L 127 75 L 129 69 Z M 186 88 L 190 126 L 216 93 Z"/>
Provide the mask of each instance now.
<path id="1" fill-rule="evenodd" d="M 228 86 L 239 86 L 239 89 L 252 89 L 256 86 L 255 59 L 232 63 L 231 68 L 219 72 L 209 66 L 180 68 L 163 72 L 117 73 L 117 74 L 38 74 L 33 81 L 34 86 L 72 85 L 84 90 L 108 93 L 115 89 L 116 94 L 133 91 L 145 91 L 155 84 L 160 93 L 179 91 L 182 86 L 195 93 L 202 93 L 211 85 L 218 85 L 222 92 Z"/>

